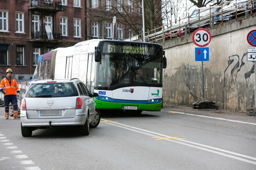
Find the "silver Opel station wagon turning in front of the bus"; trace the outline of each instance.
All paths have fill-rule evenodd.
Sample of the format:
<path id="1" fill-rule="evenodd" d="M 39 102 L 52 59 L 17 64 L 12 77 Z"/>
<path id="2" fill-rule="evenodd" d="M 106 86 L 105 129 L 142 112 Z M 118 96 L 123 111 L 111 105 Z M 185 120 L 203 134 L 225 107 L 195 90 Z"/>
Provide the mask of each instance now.
<path id="1" fill-rule="evenodd" d="M 32 82 L 21 101 L 21 134 L 33 130 L 62 126 L 79 126 L 81 135 L 96 128 L 100 112 L 84 83 L 77 78 L 46 79 Z"/>

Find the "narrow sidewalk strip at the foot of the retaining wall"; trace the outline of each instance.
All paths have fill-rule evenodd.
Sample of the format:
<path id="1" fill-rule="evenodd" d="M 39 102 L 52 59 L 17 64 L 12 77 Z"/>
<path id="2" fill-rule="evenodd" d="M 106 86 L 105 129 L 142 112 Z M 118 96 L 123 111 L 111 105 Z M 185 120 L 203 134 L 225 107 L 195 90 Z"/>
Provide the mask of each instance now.
<path id="1" fill-rule="evenodd" d="M 163 111 L 173 111 L 173 112 L 181 112 L 193 115 L 203 115 L 203 116 L 210 116 L 215 118 L 222 118 L 222 119 L 230 119 L 235 121 L 241 122 L 249 122 L 256 124 L 256 116 L 247 116 L 244 112 L 232 112 L 232 111 L 225 111 L 225 110 L 197 110 L 191 107 L 186 106 L 173 106 L 173 105 L 163 105 Z"/>

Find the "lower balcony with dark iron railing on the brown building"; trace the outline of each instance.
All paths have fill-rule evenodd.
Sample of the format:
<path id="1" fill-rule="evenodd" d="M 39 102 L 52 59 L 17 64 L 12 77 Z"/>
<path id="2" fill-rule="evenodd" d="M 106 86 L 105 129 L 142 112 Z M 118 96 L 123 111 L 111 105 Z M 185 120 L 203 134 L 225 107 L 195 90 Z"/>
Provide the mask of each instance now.
<path id="1" fill-rule="evenodd" d="M 38 40 L 39 41 L 52 41 L 59 42 L 59 40 L 62 40 L 62 34 L 61 33 L 51 33 L 51 32 L 32 32 L 31 33 L 31 39 L 32 40 Z"/>

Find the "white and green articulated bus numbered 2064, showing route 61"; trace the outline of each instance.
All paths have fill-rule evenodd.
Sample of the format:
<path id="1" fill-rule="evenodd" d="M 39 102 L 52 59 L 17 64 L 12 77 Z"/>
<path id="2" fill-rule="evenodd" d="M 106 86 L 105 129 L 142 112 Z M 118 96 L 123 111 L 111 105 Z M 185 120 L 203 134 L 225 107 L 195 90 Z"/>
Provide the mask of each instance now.
<path id="1" fill-rule="evenodd" d="M 93 39 L 40 55 L 34 76 L 79 78 L 98 109 L 141 113 L 161 110 L 165 68 L 162 45 Z"/>

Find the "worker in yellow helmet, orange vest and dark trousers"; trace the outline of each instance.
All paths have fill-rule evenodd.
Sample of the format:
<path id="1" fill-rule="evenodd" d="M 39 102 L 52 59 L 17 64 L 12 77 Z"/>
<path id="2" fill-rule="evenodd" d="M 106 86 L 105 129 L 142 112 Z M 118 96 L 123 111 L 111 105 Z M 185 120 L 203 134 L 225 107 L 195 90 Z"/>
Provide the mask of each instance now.
<path id="1" fill-rule="evenodd" d="M 13 119 L 20 118 L 18 116 L 18 101 L 17 96 L 20 96 L 20 89 L 17 82 L 12 78 L 12 70 L 6 70 L 6 77 L 2 79 L 0 91 L 4 94 L 5 119 L 9 119 L 9 104 L 13 105 Z M 16 95 L 17 92 L 17 95 Z"/>

